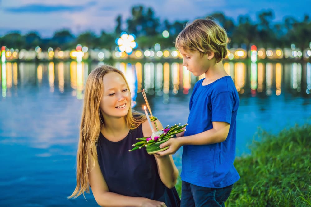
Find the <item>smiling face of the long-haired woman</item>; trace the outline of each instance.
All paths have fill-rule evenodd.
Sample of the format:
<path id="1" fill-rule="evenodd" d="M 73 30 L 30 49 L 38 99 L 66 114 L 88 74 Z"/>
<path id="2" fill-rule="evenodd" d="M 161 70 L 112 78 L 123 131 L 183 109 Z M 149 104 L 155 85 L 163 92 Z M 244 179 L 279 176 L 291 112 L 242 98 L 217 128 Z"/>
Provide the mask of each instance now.
<path id="1" fill-rule="evenodd" d="M 104 94 L 100 109 L 104 118 L 120 118 L 128 114 L 131 107 L 131 93 L 123 77 L 117 72 L 104 75 Z"/>

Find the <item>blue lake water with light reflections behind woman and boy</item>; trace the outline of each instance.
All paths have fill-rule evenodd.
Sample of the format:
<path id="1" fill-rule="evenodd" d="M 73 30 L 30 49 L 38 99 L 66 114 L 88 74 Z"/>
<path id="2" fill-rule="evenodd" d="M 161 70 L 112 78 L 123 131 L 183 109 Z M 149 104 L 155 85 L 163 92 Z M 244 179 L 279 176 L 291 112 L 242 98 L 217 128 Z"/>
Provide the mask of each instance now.
<path id="1" fill-rule="evenodd" d="M 0 96 L 0 206 L 97 206 L 92 194 L 67 200 L 75 161 L 83 88 L 100 63 L 3 63 Z M 186 123 L 194 77 L 180 63 L 114 66 L 128 79 L 142 111 L 145 88 L 162 124 Z M 311 122 L 311 64 L 226 62 L 240 96 L 237 156 L 249 154 L 258 127 L 272 133 Z M 201 78 L 201 77 L 200 77 Z M 181 150 L 174 155 L 180 168 Z"/>

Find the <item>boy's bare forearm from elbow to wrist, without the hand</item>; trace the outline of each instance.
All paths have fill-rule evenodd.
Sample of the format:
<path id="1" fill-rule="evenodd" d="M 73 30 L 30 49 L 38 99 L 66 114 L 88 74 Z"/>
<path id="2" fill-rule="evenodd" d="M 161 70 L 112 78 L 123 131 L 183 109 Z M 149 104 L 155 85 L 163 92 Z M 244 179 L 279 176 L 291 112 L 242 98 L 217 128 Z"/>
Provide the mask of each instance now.
<path id="1" fill-rule="evenodd" d="M 178 137 L 181 145 L 207 145 L 223 142 L 228 136 L 230 125 L 221 129 L 209 129 L 207 131 L 190 135 L 186 137 Z"/>

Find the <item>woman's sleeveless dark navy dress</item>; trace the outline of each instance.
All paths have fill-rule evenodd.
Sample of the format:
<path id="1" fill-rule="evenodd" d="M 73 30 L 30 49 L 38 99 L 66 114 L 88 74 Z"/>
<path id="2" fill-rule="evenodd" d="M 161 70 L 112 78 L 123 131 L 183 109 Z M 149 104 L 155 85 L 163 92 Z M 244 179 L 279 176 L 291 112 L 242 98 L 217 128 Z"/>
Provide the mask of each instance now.
<path id="1" fill-rule="evenodd" d="M 137 137 L 143 137 L 142 125 L 130 130 L 118 142 L 109 141 L 100 133 L 98 163 L 109 191 L 162 201 L 168 207 L 179 207 L 180 199 L 176 188 L 169 189 L 162 183 L 154 155 L 149 155 L 146 149 L 128 151 L 137 142 Z"/>

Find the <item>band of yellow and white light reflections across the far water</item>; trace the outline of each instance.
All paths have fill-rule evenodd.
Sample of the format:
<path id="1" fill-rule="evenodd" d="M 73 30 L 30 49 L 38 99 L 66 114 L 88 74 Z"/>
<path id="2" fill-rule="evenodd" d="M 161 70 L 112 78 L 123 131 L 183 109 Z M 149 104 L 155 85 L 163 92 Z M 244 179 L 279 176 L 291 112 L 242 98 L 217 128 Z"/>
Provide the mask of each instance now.
<path id="1" fill-rule="evenodd" d="M 39 63 L 2 63 L 2 97 L 11 96 L 12 85 L 36 83 L 38 87 L 49 84 L 50 92 L 71 90 L 72 96 L 83 99 L 84 85 L 89 68 L 95 64 L 84 62 Z M 145 88 L 149 95 L 163 96 L 163 102 L 169 102 L 170 95 L 179 92 L 188 94 L 193 84 L 204 76 L 193 76 L 181 63 L 125 63 L 114 66 L 123 71 L 132 94 L 132 106 L 136 105 L 137 93 Z M 224 63 L 226 72 L 232 77 L 241 96 L 257 96 L 264 92 L 266 96 L 281 95 L 283 92 L 310 94 L 310 63 Z M 36 69 L 36 70 L 34 70 Z M 70 85 L 70 88 L 66 85 Z M 305 96 L 304 95 L 304 96 Z"/>

